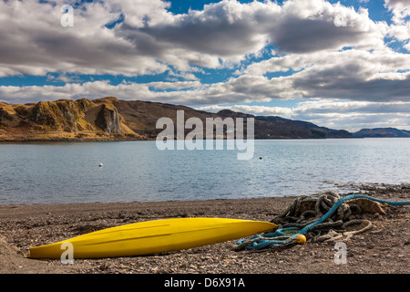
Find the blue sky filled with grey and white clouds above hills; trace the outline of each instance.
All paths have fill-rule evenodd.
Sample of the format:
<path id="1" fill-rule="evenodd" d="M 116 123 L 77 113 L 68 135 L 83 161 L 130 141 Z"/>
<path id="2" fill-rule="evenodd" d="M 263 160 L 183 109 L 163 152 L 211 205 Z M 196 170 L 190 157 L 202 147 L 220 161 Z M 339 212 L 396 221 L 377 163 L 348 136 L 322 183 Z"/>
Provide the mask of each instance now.
<path id="1" fill-rule="evenodd" d="M 410 130 L 410 0 L 0 0 L 1 101 L 108 96 Z"/>

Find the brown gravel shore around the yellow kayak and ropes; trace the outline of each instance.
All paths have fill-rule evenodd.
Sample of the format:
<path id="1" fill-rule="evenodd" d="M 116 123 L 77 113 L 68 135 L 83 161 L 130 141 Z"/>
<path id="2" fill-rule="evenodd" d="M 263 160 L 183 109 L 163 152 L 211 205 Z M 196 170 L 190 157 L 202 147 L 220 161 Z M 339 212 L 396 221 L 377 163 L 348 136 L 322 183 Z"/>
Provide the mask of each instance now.
<path id="1" fill-rule="evenodd" d="M 391 201 L 410 199 L 408 185 L 365 185 L 362 193 Z M 28 259 L 31 246 L 45 245 L 99 229 L 160 218 L 223 217 L 271 221 L 295 197 L 157 203 L 0 205 L 2 274 L 408 274 L 408 206 L 384 206 L 365 214 L 370 231 L 345 242 L 346 264 L 334 262 L 334 243 L 295 245 L 282 251 L 236 252 L 236 241 L 162 255 L 104 259 Z"/>

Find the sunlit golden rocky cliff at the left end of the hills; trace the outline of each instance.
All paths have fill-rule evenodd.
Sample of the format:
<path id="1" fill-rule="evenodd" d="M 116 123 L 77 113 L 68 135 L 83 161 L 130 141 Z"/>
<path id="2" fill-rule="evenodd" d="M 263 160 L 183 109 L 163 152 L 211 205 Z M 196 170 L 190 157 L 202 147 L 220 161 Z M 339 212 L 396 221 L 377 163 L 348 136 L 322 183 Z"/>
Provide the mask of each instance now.
<path id="1" fill-rule="evenodd" d="M 109 99 L 40 101 L 36 104 L 0 102 L 0 140 L 144 139 L 130 130 Z"/>

